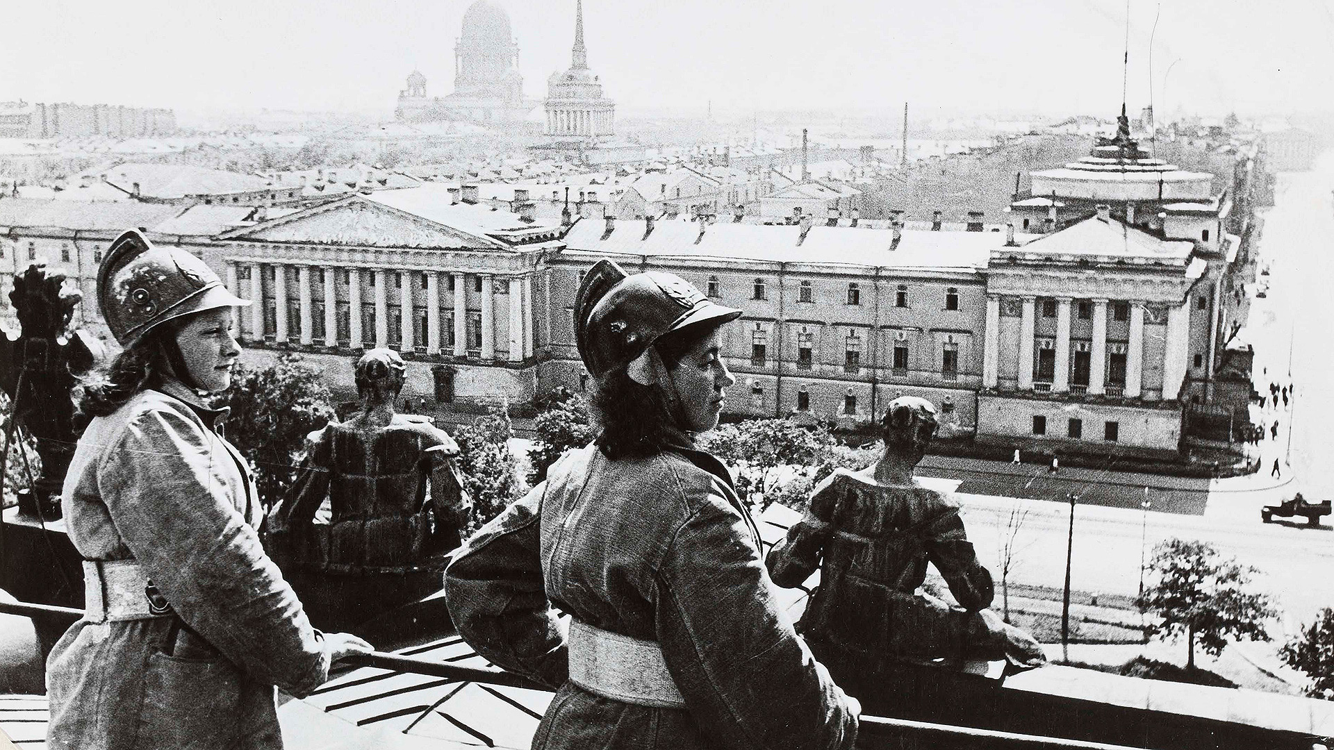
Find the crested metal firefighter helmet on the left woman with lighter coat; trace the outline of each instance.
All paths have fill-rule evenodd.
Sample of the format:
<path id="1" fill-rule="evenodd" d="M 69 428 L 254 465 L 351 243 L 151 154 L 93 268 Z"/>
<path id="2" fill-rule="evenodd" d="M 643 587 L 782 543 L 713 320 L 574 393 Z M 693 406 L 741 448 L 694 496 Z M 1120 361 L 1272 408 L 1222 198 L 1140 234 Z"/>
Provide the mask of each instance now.
<path id="1" fill-rule="evenodd" d="M 203 260 L 153 247 L 131 230 L 111 243 L 97 270 L 97 304 L 116 342 L 128 347 L 168 320 L 249 300 L 227 291 Z"/>

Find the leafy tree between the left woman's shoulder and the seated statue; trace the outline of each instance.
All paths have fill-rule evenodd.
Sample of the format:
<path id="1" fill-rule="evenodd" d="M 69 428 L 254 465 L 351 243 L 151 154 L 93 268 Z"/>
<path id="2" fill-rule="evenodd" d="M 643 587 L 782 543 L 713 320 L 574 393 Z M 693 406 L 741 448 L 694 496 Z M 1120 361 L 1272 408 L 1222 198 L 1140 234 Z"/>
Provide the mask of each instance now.
<path id="1" fill-rule="evenodd" d="M 220 406 L 231 407 L 227 438 L 255 470 L 264 507 L 281 500 L 296 479 L 305 436 L 334 418 L 320 367 L 293 352 L 280 354 L 272 367 L 237 364 Z"/>

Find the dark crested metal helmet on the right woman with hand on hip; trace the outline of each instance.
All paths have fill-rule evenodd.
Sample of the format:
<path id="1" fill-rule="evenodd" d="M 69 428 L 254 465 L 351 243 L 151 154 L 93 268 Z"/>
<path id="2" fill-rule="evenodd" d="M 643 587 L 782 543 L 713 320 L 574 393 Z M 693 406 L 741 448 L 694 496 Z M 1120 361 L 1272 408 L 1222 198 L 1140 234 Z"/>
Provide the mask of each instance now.
<path id="1" fill-rule="evenodd" d="M 740 315 L 675 274 L 628 275 L 611 260 L 599 260 L 575 298 L 575 340 L 584 367 L 596 376 L 639 358 L 664 334 L 706 322 L 720 326 Z"/>

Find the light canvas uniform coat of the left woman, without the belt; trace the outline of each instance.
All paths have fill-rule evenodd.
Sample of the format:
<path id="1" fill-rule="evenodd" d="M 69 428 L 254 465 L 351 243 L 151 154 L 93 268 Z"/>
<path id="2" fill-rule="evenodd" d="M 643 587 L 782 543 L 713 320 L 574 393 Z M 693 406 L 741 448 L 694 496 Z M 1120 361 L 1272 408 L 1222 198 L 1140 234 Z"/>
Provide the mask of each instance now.
<path id="1" fill-rule="evenodd" d="M 188 627 L 75 623 L 47 661 L 48 747 L 277 749 L 273 686 L 304 695 L 327 679 L 321 637 L 264 555 L 259 496 L 212 430 L 219 416 L 169 383 L 80 438 L 63 496 L 71 542 L 88 560 L 137 560 Z"/>

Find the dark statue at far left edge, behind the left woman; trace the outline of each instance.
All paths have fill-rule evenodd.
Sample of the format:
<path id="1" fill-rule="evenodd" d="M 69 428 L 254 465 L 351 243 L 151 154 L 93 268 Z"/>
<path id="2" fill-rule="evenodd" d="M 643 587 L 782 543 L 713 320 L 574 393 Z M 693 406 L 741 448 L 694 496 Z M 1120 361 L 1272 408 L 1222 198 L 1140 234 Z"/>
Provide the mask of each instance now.
<path id="1" fill-rule="evenodd" d="M 81 300 L 83 294 L 65 283 L 64 274 L 33 263 L 15 276 L 9 292 L 21 334 L 17 340 L 0 334 L 0 388 L 9 396 L 19 424 L 36 438 L 41 458 L 33 492 L 20 494 L 20 504 L 28 512 L 40 510 L 47 519 L 60 518 L 60 488 L 83 431 L 75 424 L 69 398 L 75 376 L 105 356 L 105 347 L 88 331 L 69 328 Z"/>

